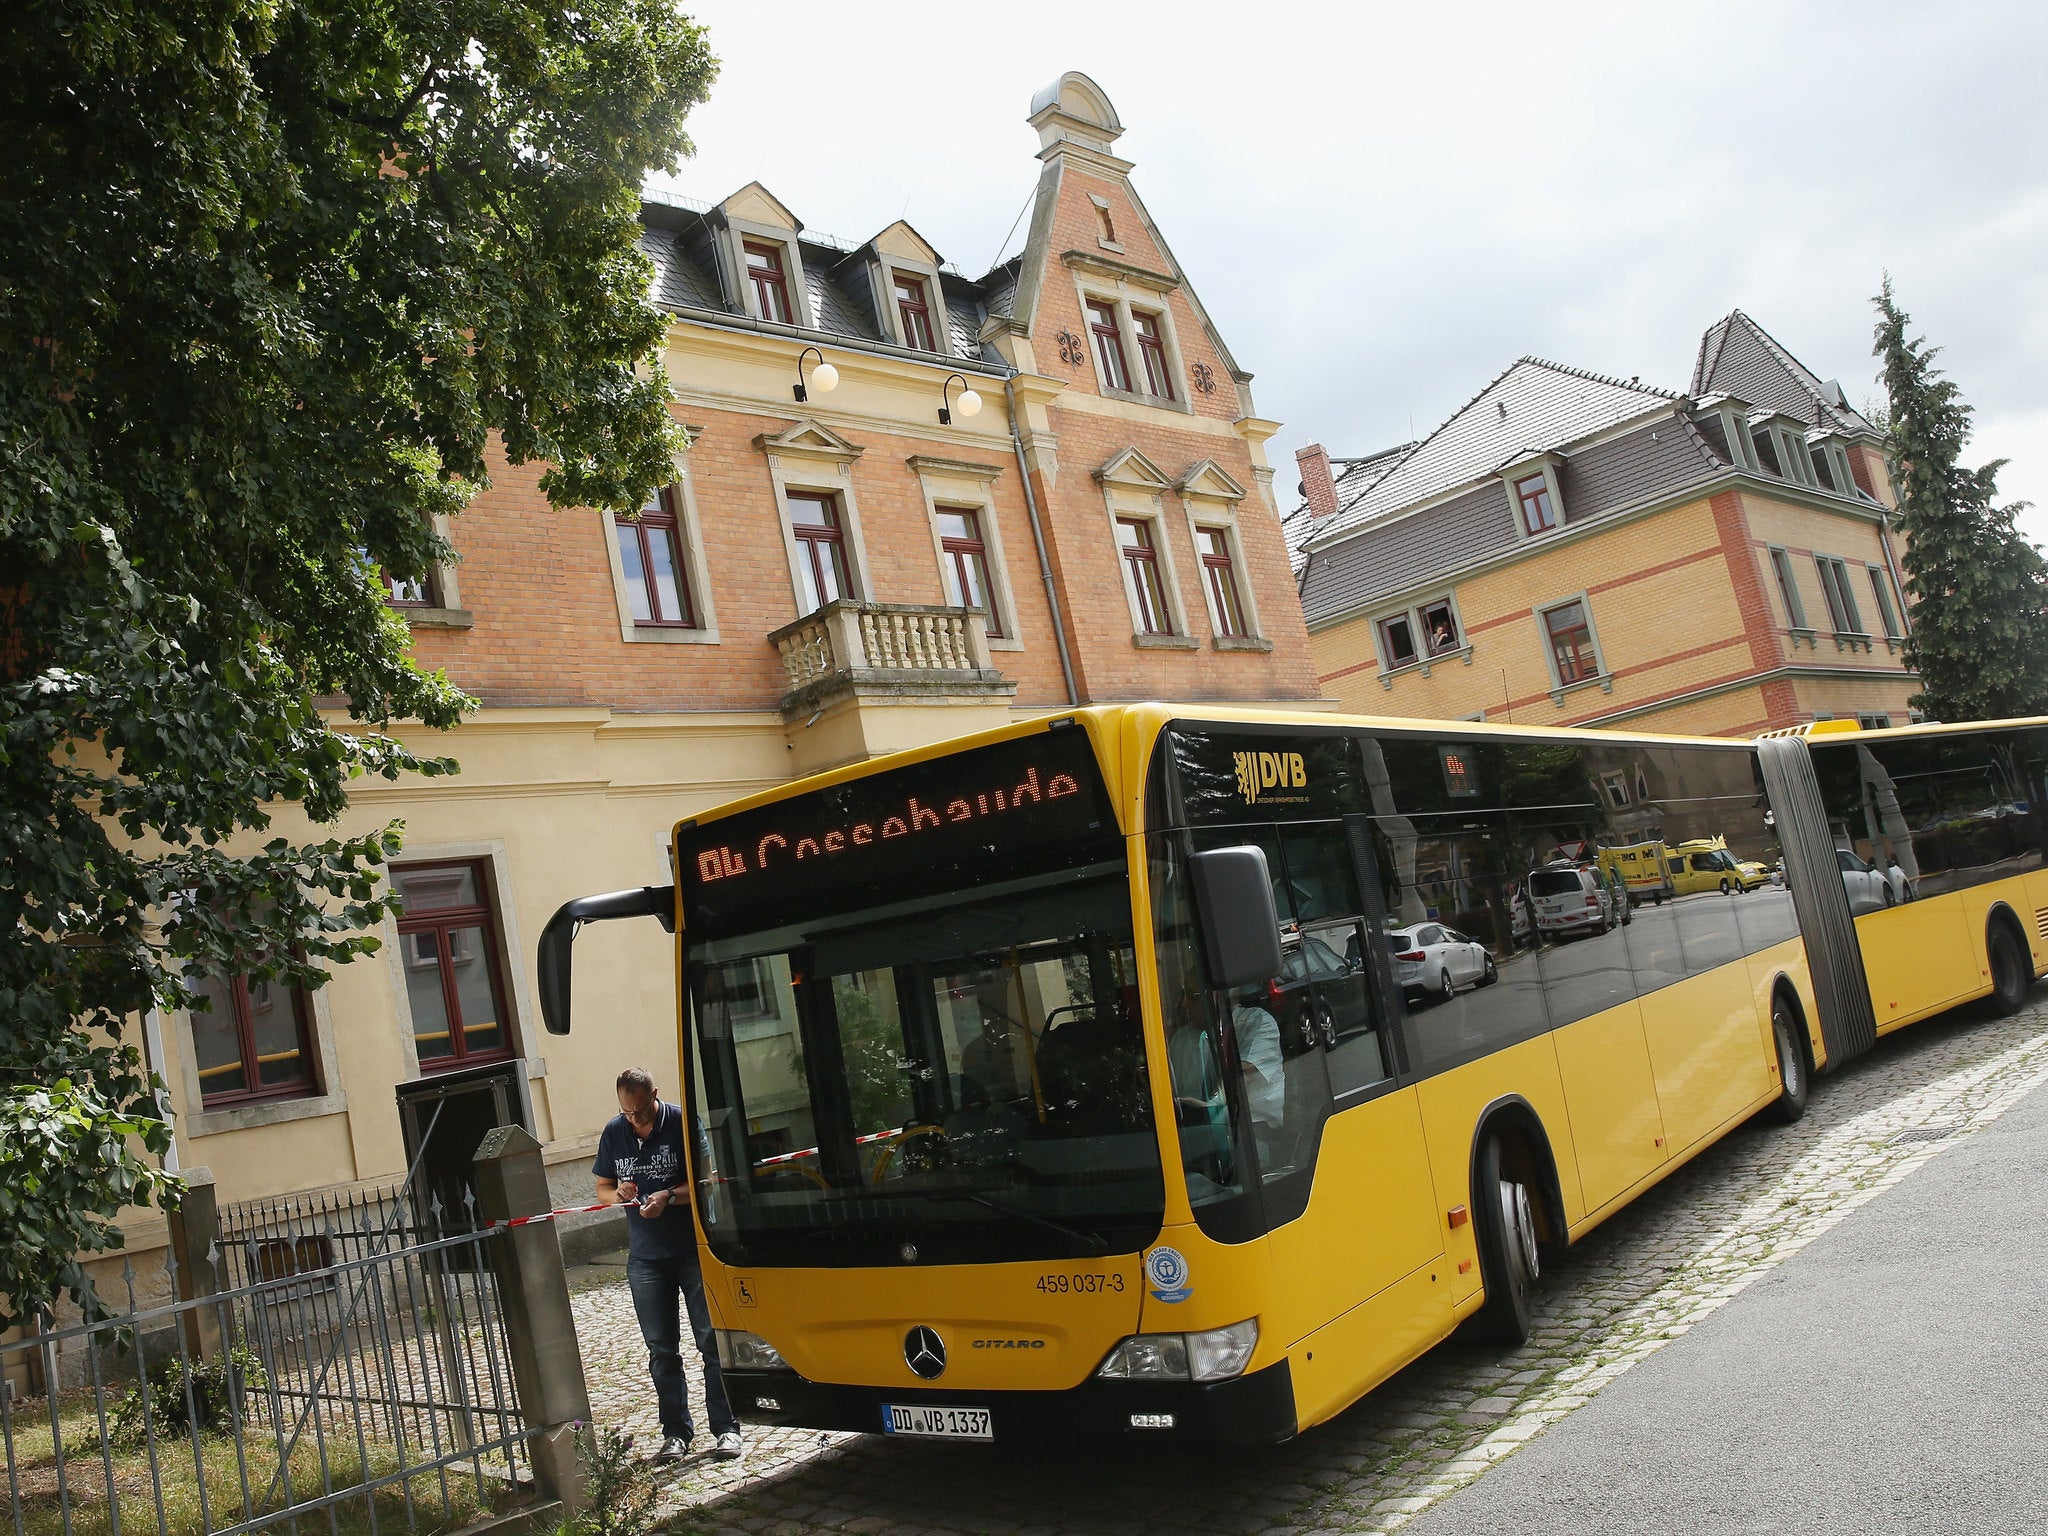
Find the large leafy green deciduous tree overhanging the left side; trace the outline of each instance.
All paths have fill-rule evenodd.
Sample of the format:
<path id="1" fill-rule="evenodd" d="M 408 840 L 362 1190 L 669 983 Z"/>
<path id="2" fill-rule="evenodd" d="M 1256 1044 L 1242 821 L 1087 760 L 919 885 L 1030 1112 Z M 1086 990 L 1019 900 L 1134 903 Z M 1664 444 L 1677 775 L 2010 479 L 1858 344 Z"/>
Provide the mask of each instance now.
<path id="1" fill-rule="evenodd" d="M 4 1327 L 176 1198 L 133 1020 L 377 946 L 399 823 L 260 838 L 453 770 L 379 729 L 471 702 L 385 580 L 492 451 L 670 477 L 639 188 L 717 61 L 672 0 L 27 0 L 0 53 Z"/>

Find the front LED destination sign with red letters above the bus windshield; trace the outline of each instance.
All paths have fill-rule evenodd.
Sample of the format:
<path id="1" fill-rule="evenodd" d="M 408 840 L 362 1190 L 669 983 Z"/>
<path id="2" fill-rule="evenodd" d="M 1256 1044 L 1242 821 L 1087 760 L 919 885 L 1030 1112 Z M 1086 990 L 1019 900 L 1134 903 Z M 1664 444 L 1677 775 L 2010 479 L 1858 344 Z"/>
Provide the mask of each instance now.
<path id="1" fill-rule="evenodd" d="M 676 852 L 686 928 L 709 936 L 1036 874 L 1114 838 L 1075 727 L 686 825 Z"/>

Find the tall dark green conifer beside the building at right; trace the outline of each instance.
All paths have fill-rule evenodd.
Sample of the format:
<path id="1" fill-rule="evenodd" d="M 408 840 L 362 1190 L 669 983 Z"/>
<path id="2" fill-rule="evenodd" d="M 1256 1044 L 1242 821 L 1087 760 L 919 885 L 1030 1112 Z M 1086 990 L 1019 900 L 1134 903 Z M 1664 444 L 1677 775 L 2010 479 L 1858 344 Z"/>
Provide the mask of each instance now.
<path id="1" fill-rule="evenodd" d="M 1933 365 L 1939 348 L 1907 334 L 1890 279 L 1874 303 L 1913 602 L 1905 662 L 1921 676 L 1913 705 L 1942 721 L 2048 713 L 2048 565 L 2015 526 L 2025 502 L 1999 506 L 2003 459 L 1962 467 L 1972 412 Z"/>

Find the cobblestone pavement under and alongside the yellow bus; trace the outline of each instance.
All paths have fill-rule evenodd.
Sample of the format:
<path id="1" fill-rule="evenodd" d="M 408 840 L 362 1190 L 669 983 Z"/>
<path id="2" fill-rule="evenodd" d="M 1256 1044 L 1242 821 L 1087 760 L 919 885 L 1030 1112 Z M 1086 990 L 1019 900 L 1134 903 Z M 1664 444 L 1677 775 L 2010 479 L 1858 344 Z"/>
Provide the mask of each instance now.
<path id="1" fill-rule="evenodd" d="M 1286 1446 L 1217 1456 L 750 1430 L 745 1460 L 684 1462 L 668 1477 L 672 1528 L 1391 1532 L 2044 1081 L 2042 1001 L 2009 1020 L 1952 1014 L 1880 1040 L 1815 1085 L 1800 1124 L 1739 1128 L 1573 1247 L 1544 1280 L 1526 1346 L 1452 1339 Z M 657 1438 L 625 1286 L 584 1292 L 575 1313 L 598 1421 Z M 690 1380 L 694 1403 L 694 1370 Z"/>

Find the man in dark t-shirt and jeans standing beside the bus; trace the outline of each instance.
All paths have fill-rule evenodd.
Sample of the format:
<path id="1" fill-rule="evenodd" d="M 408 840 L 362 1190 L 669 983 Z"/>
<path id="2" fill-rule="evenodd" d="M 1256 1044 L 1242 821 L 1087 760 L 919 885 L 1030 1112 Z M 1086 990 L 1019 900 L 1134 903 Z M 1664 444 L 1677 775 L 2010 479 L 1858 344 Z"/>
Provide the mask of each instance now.
<path id="1" fill-rule="evenodd" d="M 631 1206 L 627 1288 L 633 1292 L 633 1315 L 647 1341 L 647 1374 L 662 1405 L 662 1450 L 655 1452 L 655 1460 L 672 1462 L 690 1454 L 682 1311 L 690 1315 L 690 1333 L 705 1360 L 705 1419 L 715 1436 L 711 1454 L 731 1460 L 739 1454 L 739 1419 L 725 1401 L 725 1382 L 719 1376 L 682 1167 L 682 1110 L 662 1102 L 647 1071 L 627 1067 L 618 1073 L 618 1114 L 598 1137 L 598 1157 L 590 1174 L 598 1184 L 598 1200 Z"/>

